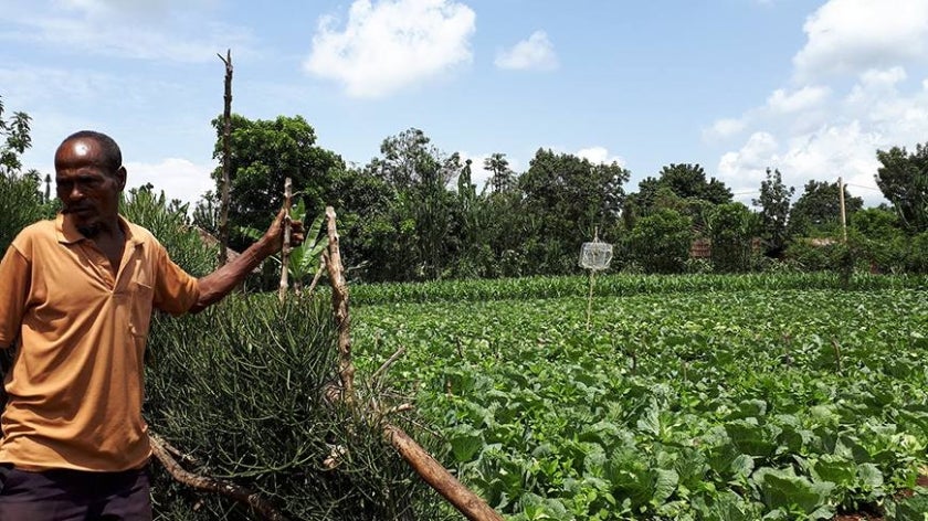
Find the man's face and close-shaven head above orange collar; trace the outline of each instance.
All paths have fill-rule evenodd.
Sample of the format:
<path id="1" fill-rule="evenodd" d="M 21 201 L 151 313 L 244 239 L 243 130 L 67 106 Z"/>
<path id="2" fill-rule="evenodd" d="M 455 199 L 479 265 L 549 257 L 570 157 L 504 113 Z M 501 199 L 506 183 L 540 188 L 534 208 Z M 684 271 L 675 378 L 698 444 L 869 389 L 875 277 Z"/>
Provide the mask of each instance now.
<path id="1" fill-rule="evenodd" d="M 95 139 L 72 139 L 55 152 L 55 184 L 62 212 L 71 215 L 78 228 L 93 230 L 116 219 L 126 170 L 108 171 Z"/>

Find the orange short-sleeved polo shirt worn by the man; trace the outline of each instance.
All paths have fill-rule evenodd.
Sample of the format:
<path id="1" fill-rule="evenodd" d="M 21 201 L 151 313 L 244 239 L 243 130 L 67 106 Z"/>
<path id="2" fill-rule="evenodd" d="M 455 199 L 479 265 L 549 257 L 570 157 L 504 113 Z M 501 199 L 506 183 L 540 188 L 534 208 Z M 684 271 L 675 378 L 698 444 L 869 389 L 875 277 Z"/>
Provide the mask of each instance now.
<path id="1" fill-rule="evenodd" d="M 23 230 L 0 262 L 0 348 L 18 348 L 3 382 L 0 461 L 117 471 L 148 460 L 141 402 L 151 310 L 183 313 L 199 287 L 151 233 L 119 224 L 126 246 L 115 278 L 61 214 Z"/>

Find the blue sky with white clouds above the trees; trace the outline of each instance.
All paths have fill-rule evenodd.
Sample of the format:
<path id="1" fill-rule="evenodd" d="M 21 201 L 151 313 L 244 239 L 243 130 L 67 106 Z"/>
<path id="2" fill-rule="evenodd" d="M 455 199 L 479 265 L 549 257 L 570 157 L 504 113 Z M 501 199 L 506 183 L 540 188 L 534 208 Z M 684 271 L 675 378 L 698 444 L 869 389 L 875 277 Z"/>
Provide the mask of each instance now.
<path id="1" fill-rule="evenodd" d="M 226 49 L 234 111 L 302 115 L 359 166 L 415 127 L 517 172 L 538 148 L 618 161 L 628 191 L 699 163 L 749 203 L 769 167 L 877 204 L 876 150 L 928 140 L 928 0 L 0 0 L 25 164 L 97 129 L 130 185 L 196 201 Z"/>

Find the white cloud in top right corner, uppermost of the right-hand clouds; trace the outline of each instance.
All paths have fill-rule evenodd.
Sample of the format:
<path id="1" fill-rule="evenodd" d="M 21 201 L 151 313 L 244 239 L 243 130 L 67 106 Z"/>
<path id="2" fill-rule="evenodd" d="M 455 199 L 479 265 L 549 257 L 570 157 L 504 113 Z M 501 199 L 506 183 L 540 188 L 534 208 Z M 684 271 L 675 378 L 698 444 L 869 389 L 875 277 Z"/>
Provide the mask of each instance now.
<path id="1" fill-rule="evenodd" d="M 925 0 L 830 0 L 803 26 L 809 40 L 793 57 L 801 81 L 882 68 L 928 57 Z"/>

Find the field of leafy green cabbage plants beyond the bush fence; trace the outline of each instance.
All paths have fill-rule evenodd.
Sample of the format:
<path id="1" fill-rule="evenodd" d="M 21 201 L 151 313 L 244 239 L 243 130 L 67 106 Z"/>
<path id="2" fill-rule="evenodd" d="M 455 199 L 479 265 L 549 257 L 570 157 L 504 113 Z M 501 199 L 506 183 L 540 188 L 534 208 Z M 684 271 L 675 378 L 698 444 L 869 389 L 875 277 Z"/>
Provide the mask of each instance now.
<path id="1" fill-rule="evenodd" d="M 583 280 L 359 287 L 356 361 L 405 348 L 392 385 L 509 519 L 924 519 L 924 281 L 650 278 L 588 325 Z"/>

